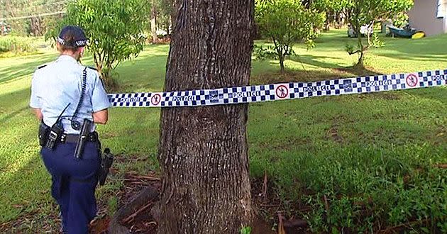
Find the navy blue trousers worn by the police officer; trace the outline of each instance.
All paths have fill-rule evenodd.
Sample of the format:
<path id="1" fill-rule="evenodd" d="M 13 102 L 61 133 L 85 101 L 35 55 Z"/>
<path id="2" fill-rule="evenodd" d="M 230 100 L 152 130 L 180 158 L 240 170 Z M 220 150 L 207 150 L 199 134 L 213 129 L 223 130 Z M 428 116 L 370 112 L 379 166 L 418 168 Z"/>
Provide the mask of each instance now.
<path id="1" fill-rule="evenodd" d="M 96 173 L 101 163 L 98 143 L 88 142 L 82 159 L 75 159 L 75 143 L 58 144 L 53 150 L 40 150 L 43 163 L 51 174 L 51 195 L 59 204 L 64 233 L 88 233 L 96 216 Z"/>

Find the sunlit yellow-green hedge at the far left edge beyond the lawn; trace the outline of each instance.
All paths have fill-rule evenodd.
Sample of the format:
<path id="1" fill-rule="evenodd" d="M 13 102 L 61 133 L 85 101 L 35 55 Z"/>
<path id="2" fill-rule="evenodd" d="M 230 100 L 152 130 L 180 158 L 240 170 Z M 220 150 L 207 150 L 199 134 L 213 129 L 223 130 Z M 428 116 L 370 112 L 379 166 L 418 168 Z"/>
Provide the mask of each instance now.
<path id="1" fill-rule="evenodd" d="M 13 52 L 35 52 L 36 48 L 32 38 L 23 38 L 18 36 L 0 37 L 0 53 Z"/>

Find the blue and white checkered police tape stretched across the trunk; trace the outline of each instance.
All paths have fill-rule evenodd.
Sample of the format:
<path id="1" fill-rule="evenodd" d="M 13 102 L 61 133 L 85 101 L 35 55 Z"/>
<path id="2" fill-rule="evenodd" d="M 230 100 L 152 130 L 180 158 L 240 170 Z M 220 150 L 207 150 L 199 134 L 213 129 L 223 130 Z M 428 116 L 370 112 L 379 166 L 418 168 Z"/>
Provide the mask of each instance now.
<path id="1" fill-rule="evenodd" d="M 294 82 L 220 89 L 153 93 L 109 94 L 115 107 L 181 107 L 245 104 L 260 101 L 304 99 L 314 96 L 365 94 L 447 85 L 447 69 L 405 74 Z"/>

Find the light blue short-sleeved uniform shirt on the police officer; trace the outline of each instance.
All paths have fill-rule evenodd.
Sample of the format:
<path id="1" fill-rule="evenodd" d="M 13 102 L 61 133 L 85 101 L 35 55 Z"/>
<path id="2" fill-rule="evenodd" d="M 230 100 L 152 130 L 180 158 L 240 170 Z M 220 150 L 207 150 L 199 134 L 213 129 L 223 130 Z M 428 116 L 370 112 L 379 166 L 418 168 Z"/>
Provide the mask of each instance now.
<path id="1" fill-rule="evenodd" d="M 75 58 L 60 55 L 55 62 L 51 62 L 34 72 L 30 106 L 41 109 L 43 122 L 47 126 L 53 126 L 60 113 L 70 104 L 61 118 L 64 133 L 79 134 L 79 130 L 72 128 L 70 120 L 81 96 L 82 72 L 84 69 L 85 66 L 80 65 Z M 86 71 L 87 85 L 84 100 L 76 116 L 76 120 L 81 125 L 84 118 L 93 121 L 92 113 L 111 106 L 98 72 L 88 67 Z M 92 127 L 91 131 L 94 131 L 94 129 L 95 126 Z"/>

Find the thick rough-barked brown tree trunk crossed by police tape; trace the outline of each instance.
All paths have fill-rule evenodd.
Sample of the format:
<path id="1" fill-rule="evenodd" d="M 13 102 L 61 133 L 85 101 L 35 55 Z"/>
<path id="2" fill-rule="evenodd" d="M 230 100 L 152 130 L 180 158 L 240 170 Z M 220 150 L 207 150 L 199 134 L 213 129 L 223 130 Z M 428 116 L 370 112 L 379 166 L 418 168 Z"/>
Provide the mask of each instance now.
<path id="1" fill-rule="evenodd" d="M 182 1 L 165 91 L 248 85 L 254 1 Z M 192 96 L 194 97 L 194 96 Z M 253 217 L 248 105 L 162 108 L 158 233 L 239 233 Z"/>

